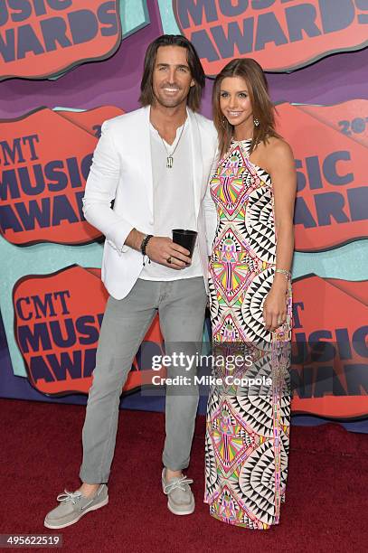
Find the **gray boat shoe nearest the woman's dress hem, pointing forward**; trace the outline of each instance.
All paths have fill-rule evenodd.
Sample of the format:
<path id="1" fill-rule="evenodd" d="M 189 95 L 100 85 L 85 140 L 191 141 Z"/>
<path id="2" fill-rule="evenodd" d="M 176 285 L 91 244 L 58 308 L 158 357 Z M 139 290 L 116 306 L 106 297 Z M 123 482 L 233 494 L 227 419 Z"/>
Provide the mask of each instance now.
<path id="1" fill-rule="evenodd" d="M 177 515 L 192 514 L 195 507 L 194 496 L 189 484 L 193 480 L 182 476 L 180 478 L 170 478 L 165 481 L 165 468 L 162 472 L 162 489 L 167 495 L 167 508 Z"/>

